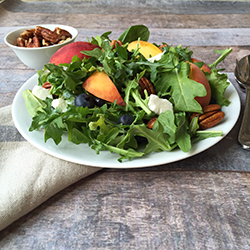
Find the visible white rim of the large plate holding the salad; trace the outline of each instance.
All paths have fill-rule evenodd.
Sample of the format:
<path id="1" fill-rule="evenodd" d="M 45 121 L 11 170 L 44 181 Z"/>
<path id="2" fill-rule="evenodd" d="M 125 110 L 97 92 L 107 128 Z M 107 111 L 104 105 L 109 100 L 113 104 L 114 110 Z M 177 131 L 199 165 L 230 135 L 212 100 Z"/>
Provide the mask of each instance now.
<path id="1" fill-rule="evenodd" d="M 223 107 L 223 111 L 226 114 L 225 118 L 223 122 L 213 128 L 213 130 L 222 130 L 223 136 L 199 141 L 193 145 L 192 149 L 188 153 L 184 153 L 177 149 L 171 152 L 152 153 L 143 158 L 120 163 L 117 161 L 119 158 L 117 154 L 111 154 L 109 151 L 103 151 L 99 155 L 96 155 L 95 151 L 90 149 L 88 145 L 75 145 L 67 140 L 67 136 L 64 136 L 62 142 L 56 146 L 51 139 L 46 143 L 44 142 L 44 133 L 42 131 L 28 131 L 32 119 L 27 112 L 22 92 L 25 89 L 32 89 L 33 86 L 37 84 L 37 78 L 37 75 L 34 75 L 27 82 L 25 82 L 14 98 L 12 116 L 15 126 L 22 136 L 38 149 L 57 158 L 83 165 L 103 168 L 139 168 L 179 161 L 196 155 L 222 140 L 234 127 L 240 113 L 240 99 L 238 93 L 234 86 L 230 84 L 226 90 L 225 96 L 231 101 L 231 104 L 228 107 Z"/>

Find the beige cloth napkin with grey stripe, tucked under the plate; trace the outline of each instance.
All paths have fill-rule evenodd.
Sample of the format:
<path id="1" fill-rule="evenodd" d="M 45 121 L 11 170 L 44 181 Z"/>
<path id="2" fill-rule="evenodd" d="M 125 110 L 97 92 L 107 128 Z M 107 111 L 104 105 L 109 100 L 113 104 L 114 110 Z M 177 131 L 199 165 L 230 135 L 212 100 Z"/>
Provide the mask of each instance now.
<path id="1" fill-rule="evenodd" d="M 57 159 L 25 141 L 11 106 L 0 109 L 0 230 L 48 198 L 101 168 Z"/>

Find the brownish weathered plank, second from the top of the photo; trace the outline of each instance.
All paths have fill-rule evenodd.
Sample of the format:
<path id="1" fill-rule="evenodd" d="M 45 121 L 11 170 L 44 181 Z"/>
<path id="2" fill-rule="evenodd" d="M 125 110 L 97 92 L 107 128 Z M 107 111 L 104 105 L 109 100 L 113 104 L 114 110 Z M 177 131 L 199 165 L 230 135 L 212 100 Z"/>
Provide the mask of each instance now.
<path id="1" fill-rule="evenodd" d="M 0 20 L 2 27 L 27 26 L 30 24 L 59 23 L 69 24 L 76 28 L 111 28 L 126 29 L 130 25 L 145 24 L 149 28 L 159 29 L 179 29 L 179 28 L 249 28 L 249 14 L 204 14 L 198 15 L 174 15 L 174 14 L 140 14 L 130 13 L 128 15 L 114 14 L 51 14 L 51 13 L 29 13 L 27 19 L 26 13 L 15 13 L 4 10 L 0 6 Z M 233 20 L 233 22 L 232 22 Z"/>

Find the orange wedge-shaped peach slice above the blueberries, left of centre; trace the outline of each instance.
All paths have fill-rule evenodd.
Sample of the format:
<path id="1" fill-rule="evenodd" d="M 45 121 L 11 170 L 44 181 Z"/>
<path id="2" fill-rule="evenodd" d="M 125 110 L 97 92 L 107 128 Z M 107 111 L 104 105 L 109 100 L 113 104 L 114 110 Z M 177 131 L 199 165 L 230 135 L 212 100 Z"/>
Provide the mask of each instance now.
<path id="1" fill-rule="evenodd" d="M 115 84 L 104 71 L 95 71 L 85 80 L 83 87 L 92 95 L 105 101 L 115 102 L 116 100 L 118 105 L 126 105 Z"/>

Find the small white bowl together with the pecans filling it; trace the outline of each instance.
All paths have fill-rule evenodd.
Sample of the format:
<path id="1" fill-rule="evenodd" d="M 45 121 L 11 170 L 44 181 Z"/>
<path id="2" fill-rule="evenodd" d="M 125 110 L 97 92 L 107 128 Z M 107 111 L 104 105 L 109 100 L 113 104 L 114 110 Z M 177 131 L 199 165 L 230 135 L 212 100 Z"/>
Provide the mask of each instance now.
<path id="1" fill-rule="evenodd" d="M 70 26 L 41 24 L 8 33 L 4 41 L 28 67 L 39 70 L 61 47 L 74 42 L 78 31 Z"/>

